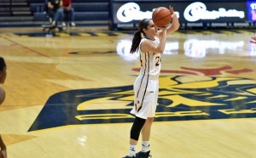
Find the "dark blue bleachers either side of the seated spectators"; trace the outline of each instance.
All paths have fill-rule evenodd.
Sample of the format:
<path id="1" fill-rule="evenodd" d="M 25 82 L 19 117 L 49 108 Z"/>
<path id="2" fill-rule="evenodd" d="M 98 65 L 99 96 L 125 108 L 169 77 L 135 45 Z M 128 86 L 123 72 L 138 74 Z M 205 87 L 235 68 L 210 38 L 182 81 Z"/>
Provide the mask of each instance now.
<path id="1" fill-rule="evenodd" d="M 44 25 L 49 22 L 47 0 L 0 0 L 0 27 L 4 25 Z M 109 0 L 73 0 L 75 23 L 107 25 Z"/>

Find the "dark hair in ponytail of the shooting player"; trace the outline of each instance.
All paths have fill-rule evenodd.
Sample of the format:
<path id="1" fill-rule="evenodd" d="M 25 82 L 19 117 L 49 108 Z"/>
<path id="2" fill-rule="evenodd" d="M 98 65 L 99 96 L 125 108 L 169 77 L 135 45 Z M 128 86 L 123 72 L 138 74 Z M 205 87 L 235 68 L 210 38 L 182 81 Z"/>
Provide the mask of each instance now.
<path id="1" fill-rule="evenodd" d="M 135 32 L 134 37 L 132 39 L 130 54 L 133 54 L 134 52 L 137 51 L 139 44 L 142 40 L 142 33 L 143 33 L 143 36 L 145 37 L 145 32 L 143 31 L 143 29 L 148 29 L 147 26 L 149 21 L 150 19 L 143 19 L 140 21 L 139 30 Z"/>

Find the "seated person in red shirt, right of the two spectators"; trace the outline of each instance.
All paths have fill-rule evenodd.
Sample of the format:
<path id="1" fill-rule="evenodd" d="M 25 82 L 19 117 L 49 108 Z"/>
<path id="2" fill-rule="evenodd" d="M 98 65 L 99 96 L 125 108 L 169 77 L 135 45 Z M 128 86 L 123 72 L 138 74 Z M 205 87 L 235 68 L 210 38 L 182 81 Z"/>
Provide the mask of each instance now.
<path id="1" fill-rule="evenodd" d="M 65 21 L 70 22 L 71 26 L 75 26 L 74 23 L 74 9 L 72 7 L 72 0 L 62 0 L 62 8 L 64 9 Z"/>

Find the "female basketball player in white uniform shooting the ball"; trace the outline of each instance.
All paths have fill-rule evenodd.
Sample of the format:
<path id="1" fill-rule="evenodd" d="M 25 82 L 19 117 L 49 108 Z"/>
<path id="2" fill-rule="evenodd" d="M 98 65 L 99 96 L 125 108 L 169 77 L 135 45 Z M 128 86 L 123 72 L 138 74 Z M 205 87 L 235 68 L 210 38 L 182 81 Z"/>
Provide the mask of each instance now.
<path id="1" fill-rule="evenodd" d="M 144 19 L 139 23 L 139 30 L 134 34 L 131 44 L 131 54 L 140 54 L 141 71 L 134 82 L 135 100 L 131 114 L 135 120 L 131 127 L 129 154 L 124 158 L 146 158 L 149 156 L 149 138 L 151 125 L 159 92 L 161 54 L 166 47 L 166 37 L 179 27 L 177 15 L 172 7 L 172 25 L 157 27 L 153 20 Z M 136 153 L 137 141 L 142 133 L 142 150 Z"/>

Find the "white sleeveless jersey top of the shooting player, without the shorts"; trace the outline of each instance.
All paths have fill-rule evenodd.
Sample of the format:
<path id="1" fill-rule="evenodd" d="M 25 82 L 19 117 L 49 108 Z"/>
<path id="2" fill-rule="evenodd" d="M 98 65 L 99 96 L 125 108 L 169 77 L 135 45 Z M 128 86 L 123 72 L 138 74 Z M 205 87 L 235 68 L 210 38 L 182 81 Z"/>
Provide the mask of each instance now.
<path id="1" fill-rule="evenodd" d="M 140 75 L 142 76 L 152 76 L 152 77 L 158 77 L 160 75 L 160 54 L 155 54 L 154 52 L 142 52 L 141 50 L 141 44 L 144 40 L 147 40 L 146 38 L 143 38 L 139 48 L 138 52 L 140 54 L 140 60 L 141 60 L 141 71 Z M 159 44 L 160 40 L 159 38 L 155 37 L 154 43 Z"/>

